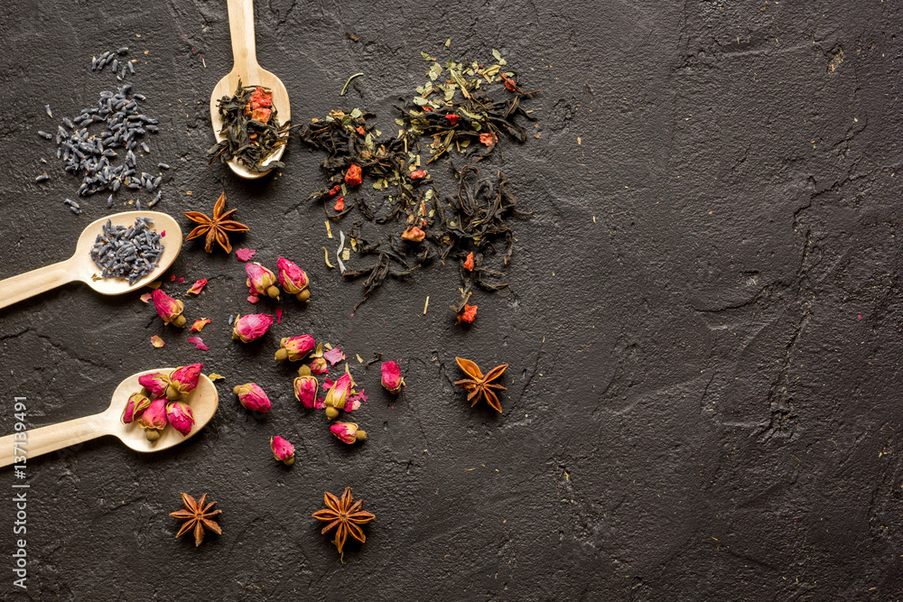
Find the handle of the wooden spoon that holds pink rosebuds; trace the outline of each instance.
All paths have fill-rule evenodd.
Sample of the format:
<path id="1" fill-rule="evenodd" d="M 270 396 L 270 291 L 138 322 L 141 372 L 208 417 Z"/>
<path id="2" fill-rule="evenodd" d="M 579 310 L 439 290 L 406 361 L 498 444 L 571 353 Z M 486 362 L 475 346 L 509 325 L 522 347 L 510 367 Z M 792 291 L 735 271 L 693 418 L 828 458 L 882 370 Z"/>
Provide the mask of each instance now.
<path id="1" fill-rule="evenodd" d="M 0 468 L 107 435 L 107 422 L 100 413 L 0 437 Z"/>

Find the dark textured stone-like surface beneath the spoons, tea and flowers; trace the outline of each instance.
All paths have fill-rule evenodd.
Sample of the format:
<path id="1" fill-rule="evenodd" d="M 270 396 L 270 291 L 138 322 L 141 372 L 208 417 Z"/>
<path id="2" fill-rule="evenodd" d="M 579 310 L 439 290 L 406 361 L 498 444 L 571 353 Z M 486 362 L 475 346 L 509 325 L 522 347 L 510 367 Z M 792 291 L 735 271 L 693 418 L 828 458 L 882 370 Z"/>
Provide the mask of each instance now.
<path id="1" fill-rule="evenodd" d="M 77 181 L 35 131 L 114 85 L 89 60 L 127 44 L 164 130 L 140 166 L 174 168 L 159 208 L 209 211 L 225 189 L 251 227 L 239 245 L 312 277 L 309 306 L 283 301 L 283 324 L 242 346 L 226 322 L 250 307 L 243 265 L 186 245 L 172 269 L 186 282 L 165 290 L 210 279 L 186 312 L 214 320 L 206 353 L 136 294 L 71 285 L 0 311 L 2 432 L 14 395 L 40 426 L 103 410 L 148 367 L 227 376 L 218 415 L 177 449 L 98 440 L 29 463 L 30 599 L 903 599 L 895 3 L 258 3 L 258 58 L 296 123 L 360 106 L 392 131 L 393 100 L 424 80 L 420 51 L 495 47 L 544 89 L 540 137 L 507 144 L 502 164 L 536 211 L 515 224 L 513 294 L 479 295 L 470 329 L 446 309 L 452 266 L 350 315 L 360 284 L 323 264 L 336 241 L 303 202 L 320 157 L 296 138 L 276 179 L 205 167 L 209 92 L 231 66 L 225 2 L 7 4 L 0 276 L 64 259 L 105 215 L 99 198 L 80 217 L 61 207 Z M 366 444 L 343 446 L 293 400 L 272 353 L 304 332 L 400 360 L 398 401 L 356 369 Z M 502 415 L 452 387 L 456 355 L 511 365 Z M 229 392 L 249 380 L 275 399 L 263 419 Z M 291 469 L 270 455 L 275 433 L 297 446 Z M 342 565 L 310 514 L 344 486 L 377 520 Z M 219 501 L 222 536 L 172 539 L 180 491 Z"/>

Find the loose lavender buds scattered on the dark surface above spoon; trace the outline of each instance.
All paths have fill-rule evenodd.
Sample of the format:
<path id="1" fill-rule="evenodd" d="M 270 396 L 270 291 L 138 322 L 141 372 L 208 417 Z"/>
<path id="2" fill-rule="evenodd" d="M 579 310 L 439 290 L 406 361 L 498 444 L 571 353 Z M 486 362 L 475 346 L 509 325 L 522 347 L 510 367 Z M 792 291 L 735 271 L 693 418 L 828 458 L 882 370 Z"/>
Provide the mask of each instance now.
<path id="1" fill-rule="evenodd" d="M 110 190 L 116 192 L 125 185 L 127 188 L 144 189 L 153 192 L 160 187 L 163 176 L 142 171 L 136 173 L 138 162 L 135 151 L 140 148 L 144 153 L 150 153 L 147 143 L 138 141 L 145 133 L 156 133 L 158 121 L 145 116 L 138 108 L 138 102 L 144 100 L 144 95 L 133 94 L 131 98 L 126 95 L 131 91 L 132 84 L 124 84 L 116 93 L 103 91 L 100 93 L 97 107 L 88 107 L 81 110 L 81 114 L 74 119 L 63 118 L 63 126 L 59 126 L 56 134 L 57 157 L 65 162 L 65 170 L 73 174 L 81 174 L 82 181 L 79 187 L 79 196 L 89 197 L 96 192 Z M 103 130 L 99 134 L 88 134 L 88 125 L 103 124 Z M 51 139 L 51 134 L 38 132 L 43 138 Z M 118 153 L 113 149 L 125 149 L 125 160 L 119 165 L 113 165 Z M 159 163 L 158 167 L 168 167 Z M 160 191 L 154 199 L 148 203 L 148 207 L 154 207 L 160 201 L 163 192 Z M 81 212 L 77 203 L 65 202 L 73 213 Z M 113 206 L 113 195 L 107 199 L 107 208 Z M 141 209 L 141 201 L 135 201 L 135 207 Z"/>

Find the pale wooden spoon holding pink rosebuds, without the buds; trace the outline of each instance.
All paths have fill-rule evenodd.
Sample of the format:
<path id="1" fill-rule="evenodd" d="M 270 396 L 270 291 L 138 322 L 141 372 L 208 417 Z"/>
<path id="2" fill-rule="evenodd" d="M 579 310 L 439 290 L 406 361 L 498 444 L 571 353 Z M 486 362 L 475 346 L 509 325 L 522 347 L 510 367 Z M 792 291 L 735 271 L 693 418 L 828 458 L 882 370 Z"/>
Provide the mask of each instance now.
<path id="1" fill-rule="evenodd" d="M 131 449 L 144 452 L 172 448 L 173 445 L 190 439 L 213 418 L 219 405 L 217 388 L 206 375 L 200 375 L 198 386 L 186 397 L 195 421 L 188 435 L 182 437 L 182 433 L 167 426 L 160 434 L 160 439 L 152 443 L 144 436 L 144 429 L 140 425 L 135 422 L 123 424 L 121 421 L 129 395 L 141 390 L 138 377 L 152 372 L 172 372 L 173 369 L 144 370 L 129 376 L 116 387 L 106 412 L 0 437 L 0 467 L 13 464 L 15 456 L 25 456 L 30 460 L 103 435 L 114 435 Z"/>

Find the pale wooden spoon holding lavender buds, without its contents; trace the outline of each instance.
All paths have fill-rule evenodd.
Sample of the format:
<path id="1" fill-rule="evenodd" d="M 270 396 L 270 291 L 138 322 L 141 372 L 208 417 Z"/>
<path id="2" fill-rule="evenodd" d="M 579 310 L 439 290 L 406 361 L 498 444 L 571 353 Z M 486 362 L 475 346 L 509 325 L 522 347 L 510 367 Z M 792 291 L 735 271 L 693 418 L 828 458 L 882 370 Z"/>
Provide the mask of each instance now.
<path id="1" fill-rule="evenodd" d="M 135 223 L 135 218 L 151 218 L 154 224 L 151 226 L 155 232 L 166 231 L 161 241 L 163 244 L 163 255 L 160 257 L 159 265 L 148 273 L 141 280 L 136 281 L 131 286 L 127 280 L 121 278 L 107 278 L 95 281 L 93 276 L 100 275 L 100 269 L 94 260 L 91 259 L 90 250 L 94 246 L 94 242 L 101 233 L 104 224 L 109 219 L 114 226 L 131 226 Z M 82 231 L 79 236 L 79 242 L 75 246 L 75 255 L 72 255 L 66 261 L 59 264 L 47 265 L 45 267 L 26 272 L 0 280 L 0 308 L 12 305 L 24 299 L 33 297 L 36 294 L 50 291 L 67 282 L 87 282 L 88 286 L 97 292 L 105 295 L 121 295 L 126 292 L 132 292 L 140 289 L 145 284 L 160 277 L 160 274 L 166 271 L 175 258 L 179 256 L 182 249 L 182 229 L 179 223 L 166 215 L 157 211 L 126 211 L 125 213 L 116 213 L 116 215 L 100 218 L 95 222 L 88 224 L 88 227 Z"/>

